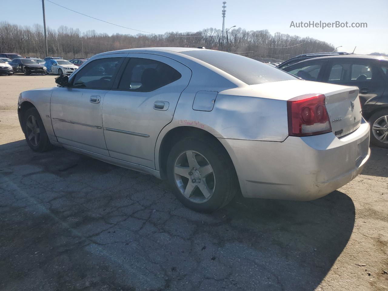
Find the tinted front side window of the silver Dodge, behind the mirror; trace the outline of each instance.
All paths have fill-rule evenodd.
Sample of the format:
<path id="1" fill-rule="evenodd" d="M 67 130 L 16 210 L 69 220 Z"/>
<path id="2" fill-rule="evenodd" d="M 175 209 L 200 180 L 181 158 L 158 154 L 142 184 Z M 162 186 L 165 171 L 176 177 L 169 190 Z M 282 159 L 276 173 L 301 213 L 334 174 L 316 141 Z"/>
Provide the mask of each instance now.
<path id="1" fill-rule="evenodd" d="M 73 87 L 110 89 L 116 75 L 121 58 L 109 57 L 89 62 L 80 69 L 72 81 Z"/>

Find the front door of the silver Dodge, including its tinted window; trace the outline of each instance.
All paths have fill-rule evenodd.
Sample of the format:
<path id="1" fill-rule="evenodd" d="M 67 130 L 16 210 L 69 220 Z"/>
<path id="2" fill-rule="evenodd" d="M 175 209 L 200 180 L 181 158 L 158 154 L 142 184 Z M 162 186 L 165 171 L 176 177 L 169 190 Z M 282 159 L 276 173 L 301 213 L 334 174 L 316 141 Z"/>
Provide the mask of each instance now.
<path id="1" fill-rule="evenodd" d="M 51 96 L 51 119 L 58 142 L 109 156 L 102 130 L 102 104 L 127 54 L 97 57 L 76 72 L 69 87 Z"/>

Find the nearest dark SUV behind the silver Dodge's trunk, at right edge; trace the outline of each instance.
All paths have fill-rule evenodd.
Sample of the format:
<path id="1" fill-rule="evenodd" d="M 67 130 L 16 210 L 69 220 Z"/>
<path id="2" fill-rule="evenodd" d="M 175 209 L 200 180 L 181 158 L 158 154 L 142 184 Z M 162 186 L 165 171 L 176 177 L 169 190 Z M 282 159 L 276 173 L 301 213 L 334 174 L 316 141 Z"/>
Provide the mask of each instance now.
<path id="1" fill-rule="evenodd" d="M 362 116 L 371 125 L 371 142 L 388 148 L 388 57 L 333 55 L 283 70 L 308 81 L 359 87 Z"/>

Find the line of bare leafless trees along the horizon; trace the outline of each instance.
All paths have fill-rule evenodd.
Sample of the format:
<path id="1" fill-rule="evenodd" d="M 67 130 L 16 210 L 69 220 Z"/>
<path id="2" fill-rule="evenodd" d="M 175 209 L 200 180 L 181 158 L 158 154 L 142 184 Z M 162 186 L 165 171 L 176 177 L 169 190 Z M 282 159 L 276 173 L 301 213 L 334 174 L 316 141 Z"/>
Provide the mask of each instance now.
<path id="1" fill-rule="evenodd" d="M 262 60 L 284 60 L 298 54 L 334 50 L 333 45 L 314 38 L 282 33 L 271 35 L 267 29 L 247 31 L 236 28 L 231 29 L 228 36 L 230 52 Z M 107 35 L 94 30 L 81 32 L 78 28 L 60 26 L 57 30 L 47 29 L 47 42 L 49 55 L 64 59 L 91 57 L 109 50 L 140 47 L 206 47 L 227 50 L 225 33 L 222 41 L 222 30 L 215 28 L 186 33 L 168 32 L 164 35 Z M 38 24 L 30 27 L 0 22 L 0 53 L 2 52 L 46 57 L 43 27 Z"/>

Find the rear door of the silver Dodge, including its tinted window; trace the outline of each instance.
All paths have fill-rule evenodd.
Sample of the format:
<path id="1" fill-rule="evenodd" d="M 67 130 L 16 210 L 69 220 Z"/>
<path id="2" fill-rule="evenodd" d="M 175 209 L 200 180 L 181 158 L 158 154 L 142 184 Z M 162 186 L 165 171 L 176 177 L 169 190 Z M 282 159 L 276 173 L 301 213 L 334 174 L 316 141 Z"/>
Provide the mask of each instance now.
<path id="1" fill-rule="evenodd" d="M 112 158 L 154 169 L 156 139 L 171 122 L 191 70 L 168 57 L 136 53 L 122 68 L 104 98 L 106 146 Z"/>

